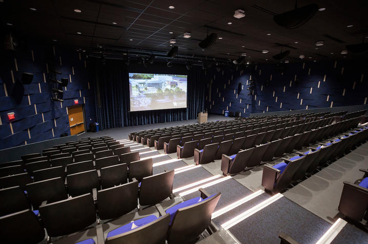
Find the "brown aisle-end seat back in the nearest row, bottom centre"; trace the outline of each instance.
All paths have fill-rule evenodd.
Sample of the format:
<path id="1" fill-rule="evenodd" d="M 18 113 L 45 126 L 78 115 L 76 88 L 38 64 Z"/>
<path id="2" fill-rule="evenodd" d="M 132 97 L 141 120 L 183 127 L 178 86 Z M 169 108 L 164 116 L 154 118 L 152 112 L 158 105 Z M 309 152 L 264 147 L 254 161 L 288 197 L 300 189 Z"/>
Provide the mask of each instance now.
<path id="1" fill-rule="evenodd" d="M 206 230 L 221 193 L 208 197 L 194 205 L 178 209 L 169 227 L 168 243 L 190 242 Z"/>

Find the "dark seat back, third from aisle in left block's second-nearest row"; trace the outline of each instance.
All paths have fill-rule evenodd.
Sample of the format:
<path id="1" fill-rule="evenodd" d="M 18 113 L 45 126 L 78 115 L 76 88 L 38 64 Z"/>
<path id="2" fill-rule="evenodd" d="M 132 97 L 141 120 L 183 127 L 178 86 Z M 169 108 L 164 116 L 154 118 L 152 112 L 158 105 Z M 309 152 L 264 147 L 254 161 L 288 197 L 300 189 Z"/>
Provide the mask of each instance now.
<path id="1" fill-rule="evenodd" d="M 39 213 L 50 237 L 83 230 L 96 221 L 91 193 L 41 205 Z"/>

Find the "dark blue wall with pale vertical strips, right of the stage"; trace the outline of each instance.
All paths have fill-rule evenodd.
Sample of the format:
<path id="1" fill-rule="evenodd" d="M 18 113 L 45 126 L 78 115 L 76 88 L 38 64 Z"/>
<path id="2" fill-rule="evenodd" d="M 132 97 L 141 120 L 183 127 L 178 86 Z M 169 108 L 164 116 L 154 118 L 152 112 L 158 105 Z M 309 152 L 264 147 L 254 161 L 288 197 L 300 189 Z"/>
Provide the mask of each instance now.
<path id="1" fill-rule="evenodd" d="M 229 110 L 248 117 L 267 111 L 366 104 L 366 67 L 366 62 L 337 61 L 259 64 L 220 71 L 210 68 L 203 71 L 208 87 L 206 108 L 214 114 Z M 254 95 L 247 90 L 251 76 L 256 84 Z M 237 95 L 239 82 L 242 89 Z"/>

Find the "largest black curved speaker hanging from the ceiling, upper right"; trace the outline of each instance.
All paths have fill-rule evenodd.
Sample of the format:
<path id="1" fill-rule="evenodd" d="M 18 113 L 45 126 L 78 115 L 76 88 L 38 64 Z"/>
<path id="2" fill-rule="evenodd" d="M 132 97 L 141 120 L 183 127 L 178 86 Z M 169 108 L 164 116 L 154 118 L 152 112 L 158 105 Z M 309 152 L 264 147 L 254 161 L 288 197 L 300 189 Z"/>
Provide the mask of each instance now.
<path id="1" fill-rule="evenodd" d="M 301 8 L 277 14 L 274 16 L 276 24 L 287 29 L 294 29 L 308 22 L 318 11 L 317 4 L 309 4 Z"/>

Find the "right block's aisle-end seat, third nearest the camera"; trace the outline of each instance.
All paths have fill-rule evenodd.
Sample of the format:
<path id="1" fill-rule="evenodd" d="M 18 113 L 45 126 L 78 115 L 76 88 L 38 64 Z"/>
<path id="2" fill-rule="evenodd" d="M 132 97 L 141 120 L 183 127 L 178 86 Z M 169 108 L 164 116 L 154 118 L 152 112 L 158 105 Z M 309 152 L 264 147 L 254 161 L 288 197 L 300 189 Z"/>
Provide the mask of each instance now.
<path id="1" fill-rule="evenodd" d="M 227 156 L 222 154 L 221 171 L 224 176 L 238 174 L 246 168 L 247 162 L 252 156 L 254 147 L 241 150 L 237 154 Z"/>

